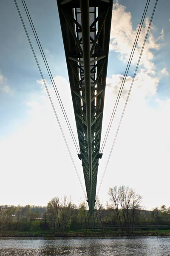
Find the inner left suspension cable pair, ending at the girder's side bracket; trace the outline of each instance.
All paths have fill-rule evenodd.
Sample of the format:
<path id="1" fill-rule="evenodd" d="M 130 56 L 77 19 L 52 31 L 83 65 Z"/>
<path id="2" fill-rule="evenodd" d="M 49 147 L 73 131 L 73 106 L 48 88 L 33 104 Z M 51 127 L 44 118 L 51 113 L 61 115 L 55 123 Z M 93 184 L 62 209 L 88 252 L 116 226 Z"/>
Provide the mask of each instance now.
<path id="1" fill-rule="evenodd" d="M 73 130 L 72 130 L 72 128 L 71 128 L 70 122 L 69 122 L 69 120 L 68 120 L 68 116 L 67 116 L 67 114 L 66 114 L 66 112 L 65 112 L 65 108 L 64 108 L 64 106 L 63 106 L 63 104 L 62 104 L 62 100 L 61 100 L 61 98 L 60 98 L 60 96 L 59 96 L 59 92 L 58 92 L 58 90 L 57 90 L 57 86 L 56 86 L 55 81 L 54 81 L 54 78 L 53 78 L 53 76 L 52 76 L 52 74 L 51 74 L 50 67 L 49 67 L 49 65 L 48 65 L 48 62 L 47 62 L 47 59 L 46 59 L 46 57 L 45 57 L 44 51 L 43 51 L 43 49 L 42 49 L 40 40 L 39 40 L 39 38 L 38 38 L 36 29 L 35 29 L 35 27 L 34 27 L 34 23 L 33 23 L 32 19 L 31 19 L 30 14 L 29 14 L 29 11 L 28 11 L 28 8 L 27 8 L 27 6 L 26 6 L 25 0 L 22 0 L 22 3 L 23 3 L 23 7 L 24 7 L 24 9 L 25 9 L 25 11 L 26 11 L 26 15 L 27 15 L 27 17 L 28 17 L 29 23 L 30 23 L 30 25 L 31 25 L 31 29 L 32 29 L 32 31 L 33 31 L 33 33 L 34 33 L 34 37 L 35 37 L 35 39 L 36 39 L 36 41 L 37 41 L 37 45 L 38 45 L 38 47 L 39 47 L 39 49 L 40 49 L 40 52 L 41 52 L 41 55 L 42 55 L 42 59 L 43 59 L 43 61 L 44 61 L 44 64 L 45 64 L 45 67 L 46 67 L 46 69 L 47 69 L 48 75 L 49 75 L 49 77 L 50 77 L 51 83 L 52 83 L 52 85 L 53 85 L 54 91 L 55 91 L 55 93 L 56 93 L 56 96 L 57 96 L 59 105 L 60 105 L 60 107 L 61 107 L 61 109 L 62 109 L 62 113 L 63 113 L 63 115 L 64 115 L 64 118 L 65 118 L 65 121 L 66 121 L 66 123 L 67 123 L 68 129 L 69 129 L 69 131 L 70 131 L 72 140 L 73 140 L 74 145 L 75 145 L 75 147 L 76 147 L 77 153 L 79 154 L 79 153 L 80 153 L 80 151 L 79 151 L 79 146 L 78 146 L 78 144 L 77 144 L 77 141 L 76 141 L 76 139 L 75 139 L 75 136 L 74 136 Z"/>

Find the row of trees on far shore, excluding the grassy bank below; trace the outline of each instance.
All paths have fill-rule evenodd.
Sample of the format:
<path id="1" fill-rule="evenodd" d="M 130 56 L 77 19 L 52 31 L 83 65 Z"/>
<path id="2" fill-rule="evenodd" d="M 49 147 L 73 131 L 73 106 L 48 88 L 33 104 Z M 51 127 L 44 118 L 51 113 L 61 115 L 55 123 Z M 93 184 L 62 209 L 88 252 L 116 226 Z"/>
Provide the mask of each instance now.
<path id="1" fill-rule="evenodd" d="M 169 225 L 170 207 L 162 205 L 147 211 L 142 196 L 128 186 L 109 188 L 110 201 L 105 206 L 96 198 L 94 216 L 88 203 L 81 200 L 77 207 L 71 198 L 52 198 L 47 207 L 0 205 L 0 231 L 49 231 L 64 236 L 68 230 L 97 227 L 104 234 L 107 227 L 117 227 L 126 233 L 143 225 Z"/>

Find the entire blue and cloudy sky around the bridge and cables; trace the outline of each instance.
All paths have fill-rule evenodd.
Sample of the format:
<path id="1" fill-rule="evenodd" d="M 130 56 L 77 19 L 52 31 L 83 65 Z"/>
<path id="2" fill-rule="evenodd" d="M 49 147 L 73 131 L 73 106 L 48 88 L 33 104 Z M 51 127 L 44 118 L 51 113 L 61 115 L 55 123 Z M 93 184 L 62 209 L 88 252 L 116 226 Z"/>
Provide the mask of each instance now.
<path id="1" fill-rule="evenodd" d="M 22 3 L 17 0 L 59 121 L 85 187 L 81 161 L 68 133 Z M 27 0 L 51 73 L 77 138 L 56 0 Z M 115 119 L 99 160 L 99 187 L 139 58 L 155 0 L 150 0 Z M 145 1 L 114 0 L 102 140 L 127 66 Z M 125 185 L 145 209 L 170 206 L 170 1 L 158 1 L 125 115 L 99 191 Z M 51 198 L 84 198 L 57 119 L 13 0 L 0 1 L 0 204 L 47 205 Z M 81 199 L 80 199 L 81 198 Z"/>

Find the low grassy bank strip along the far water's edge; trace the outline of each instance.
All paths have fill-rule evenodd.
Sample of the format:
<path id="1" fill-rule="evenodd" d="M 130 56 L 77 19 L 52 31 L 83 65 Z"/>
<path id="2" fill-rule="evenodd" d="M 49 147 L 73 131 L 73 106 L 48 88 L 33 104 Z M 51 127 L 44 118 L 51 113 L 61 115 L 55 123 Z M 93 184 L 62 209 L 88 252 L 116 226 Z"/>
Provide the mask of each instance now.
<path id="1" fill-rule="evenodd" d="M 73 232 L 68 231 L 65 233 L 65 237 L 112 237 L 112 236 L 170 236 L 170 230 L 156 230 L 156 231 L 135 231 L 133 234 L 126 234 L 125 232 Z M 4 231 L 0 232 L 0 237 L 58 237 L 58 234 L 55 235 L 51 232 L 12 232 L 12 231 Z M 59 234 L 59 237 L 62 237 Z"/>

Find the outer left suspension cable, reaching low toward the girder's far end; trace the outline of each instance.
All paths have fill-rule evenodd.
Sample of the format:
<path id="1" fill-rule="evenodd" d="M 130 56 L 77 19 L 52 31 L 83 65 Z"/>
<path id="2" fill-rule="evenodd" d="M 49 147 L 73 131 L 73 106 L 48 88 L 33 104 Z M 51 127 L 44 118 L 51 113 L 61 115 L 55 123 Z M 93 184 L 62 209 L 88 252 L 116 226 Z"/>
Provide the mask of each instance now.
<path id="1" fill-rule="evenodd" d="M 31 50 L 32 50 L 32 52 L 33 52 L 35 61 L 36 61 L 36 63 L 37 63 L 38 69 L 39 69 L 40 74 L 41 74 L 41 77 L 42 77 L 42 81 L 44 82 L 45 89 L 46 89 L 46 91 L 47 91 L 47 93 L 48 93 L 48 97 L 49 97 L 49 99 L 50 99 L 52 108 L 53 108 L 54 113 L 55 113 L 55 116 L 56 116 L 56 118 L 57 118 L 57 122 L 58 122 L 58 124 L 59 124 L 59 128 L 60 128 L 60 130 L 61 130 L 61 132 L 62 132 L 62 136 L 63 136 L 63 138 L 64 138 L 64 140 L 65 140 L 65 144 L 66 144 L 66 146 L 67 146 L 67 149 L 68 149 L 68 152 L 69 152 L 69 154 L 70 154 L 72 163 L 73 163 L 73 165 L 74 165 L 74 169 L 75 169 L 75 171 L 76 171 L 76 173 L 77 173 L 77 177 L 78 177 L 78 179 L 79 179 L 80 185 L 81 185 L 82 190 L 83 190 L 83 192 L 84 192 L 85 198 L 87 198 L 87 196 L 86 196 L 86 194 L 85 194 L 85 190 L 84 190 L 84 188 L 83 188 L 83 186 L 82 186 L 82 182 L 81 182 L 81 180 L 80 180 L 79 174 L 78 174 L 78 172 L 77 172 L 77 168 L 76 168 L 76 165 L 75 165 L 75 163 L 74 163 L 74 159 L 73 159 L 73 157 L 72 157 L 72 155 L 71 155 L 70 148 L 69 148 L 69 146 L 68 146 L 67 140 L 66 140 L 65 135 L 64 135 L 64 132 L 63 132 L 63 130 L 62 130 L 62 126 L 61 126 L 61 124 L 60 124 L 60 122 L 59 122 L 59 118 L 58 118 L 57 113 L 56 113 L 56 110 L 55 110 L 55 108 L 54 108 L 54 104 L 53 104 L 53 102 L 52 102 L 50 93 L 49 93 L 49 91 L 48 91 L 48 87 L 47 87 L 46 82 L 45 82 L 45 79 L 44 79 L 44 77 L 43 77 L 43 75 L 42 75 L 42 71 L 41 71 L 39 62 L 38 62 L 37 57 L 36 57 L 36 54 L 35 54 L 35 52 L 34 52 L 34 48 L 33 48 L 32 44 L 31 44 L 31 40 L 30 40 L 30 38 L 29 38 L 29 35 L 28 35 L 28 32 L 27 32 L 25 23 L 24 23 L 24 21 L 23 21 L 23 18 L 22 18 L 22 15 L 21 15 L 21 13 L 20 13 L 20 10 L 19 10 L 19 8 L 18 8 L 18 5 L 17 5 L 16 0 L 14 0 L 14 2 L 15 2 L 15 5 L 16 5 L 16 7 L 17 7 L 17 11 L 18 11 L 18 13 L 19 13 L 19 15 L 20 15 L 20 19 L 21 19 L 21 21 L 22 21 L 22 23 L 23 23 L 24 30 L 25 30 L 25 32 L 26 32 L 26 35 L 27 35 L 29 44 L 30 44 L 30 46 L 31 46 Z"/>

